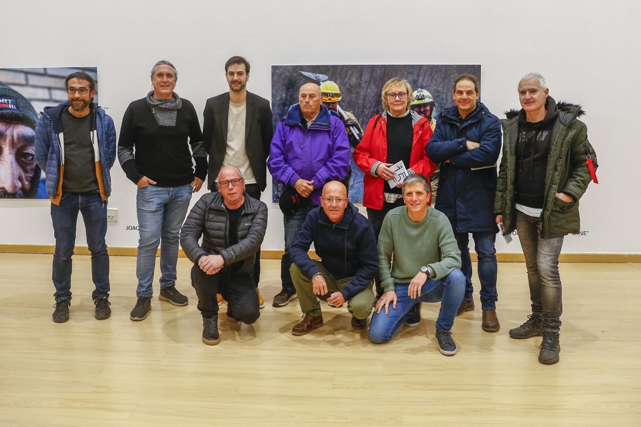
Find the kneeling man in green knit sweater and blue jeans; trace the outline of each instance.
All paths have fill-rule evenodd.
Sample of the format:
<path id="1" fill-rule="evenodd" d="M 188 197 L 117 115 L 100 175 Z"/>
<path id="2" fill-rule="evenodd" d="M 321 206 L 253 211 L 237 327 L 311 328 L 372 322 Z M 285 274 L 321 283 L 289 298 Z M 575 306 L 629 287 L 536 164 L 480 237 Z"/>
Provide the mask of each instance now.
<path id="1" fill-rule="evenodd" d="M 440 301 L 436 337 L 440 352 L 451 356 L 456 344 L 450 330 L 465 293 L 465 276 L 459 270 L 461 254 L 449 220 L 429 207 L 428 198 L 428 180 L 410 175 L 403 181 L 405 205 L 392 209 L 383 220 L 378 259 L 385 293 L 376 303 L 369 339 L 389 341 L 403 322 L 418 326 L 420 303 Z"/>

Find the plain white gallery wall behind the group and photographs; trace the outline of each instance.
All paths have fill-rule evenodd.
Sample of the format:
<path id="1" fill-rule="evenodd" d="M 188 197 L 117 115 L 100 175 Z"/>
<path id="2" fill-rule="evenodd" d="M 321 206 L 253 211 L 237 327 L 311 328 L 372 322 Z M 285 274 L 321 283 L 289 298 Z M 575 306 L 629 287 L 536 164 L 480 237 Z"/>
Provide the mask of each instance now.
<path id="1" fill-rule="evenodd" d="M 519 107 L 519 77 L 542 72 L 557 101 L 583 104 L 601 164 L 601 184 L 591 184 L 581 199 L 588 233 L 569 236 L 564 252 L 641 253 L 640 163 L 633 150 L 641 8 L 633 0 L 39 0 L 0 8 L 15 30 L 3 42 L 0 68 L 97 66 L 101 104 L 117 129 L 129 102 L 149 90 L 149 69 L 160 59 L 178 67 L 176 92 L 197 111 L 228 90 L 223 65 L 234 54 L 251 61 L 247 87 L 267 99 L 272 64 L 480 63 L 483 102 L 499 116 Z M 137 246 L 137 232 L 126 230 L 137 223 L 135 186 L 117 164 L 112 177 L 110 206 L 119 209 L 119 221 L 109 226 L 108 245 Z M 263 200 L 269 202 L 269 191 Z M 269 207 L 263 248 L 281 249 L 282 214 Z M 0 224 L 0 243 L 54 243 L 47 201 L 0 201 Z M 509 246 L 499 240 L 499 252 L 519 252 L 518 239 Z M 86 245 L 81 226 L 77 243 Z"/>

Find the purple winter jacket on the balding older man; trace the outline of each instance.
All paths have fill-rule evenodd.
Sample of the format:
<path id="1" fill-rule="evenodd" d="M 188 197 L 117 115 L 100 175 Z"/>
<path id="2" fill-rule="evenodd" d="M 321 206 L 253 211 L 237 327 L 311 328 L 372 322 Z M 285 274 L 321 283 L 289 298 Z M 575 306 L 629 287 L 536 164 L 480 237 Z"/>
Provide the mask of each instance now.
<path id="1" fill-rule="evenodd" d="M 329 181 L 342 181 L 349 168 L 349 141 L 339 118 L 320 106 L 316 120 L 304 129 L 300 106 L 292 106 L 278 122 L 269 150 L 267 167 L 275 181 L 294 188 L 299 179 L 314 182 L 310 195 L 320 204 L 322 187 Z"/>

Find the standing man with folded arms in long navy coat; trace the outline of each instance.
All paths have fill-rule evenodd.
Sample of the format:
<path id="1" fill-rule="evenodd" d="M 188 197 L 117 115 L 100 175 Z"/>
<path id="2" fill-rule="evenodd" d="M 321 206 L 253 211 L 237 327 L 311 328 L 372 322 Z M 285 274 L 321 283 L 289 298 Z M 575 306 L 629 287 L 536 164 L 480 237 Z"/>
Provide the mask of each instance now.
<path id="1" fill-rule="evenodd" d="M 472 261 L 469 234 L 474 238 L 481 282 L 483 330 L 499 330 L 496 316 L 496 250 L 498 231 L 494 215 L 496 161 L 501 152 L 501 124 L 478 101 L 479 82 L 471 74 L 454 79 L 453 107 L 440 114 L 437 127 L 426 146 L 430 159 L 440 163 L 436 209 L 452 224 L 461 251 L 465 295 L 456 316 L 474 310 Z"/>

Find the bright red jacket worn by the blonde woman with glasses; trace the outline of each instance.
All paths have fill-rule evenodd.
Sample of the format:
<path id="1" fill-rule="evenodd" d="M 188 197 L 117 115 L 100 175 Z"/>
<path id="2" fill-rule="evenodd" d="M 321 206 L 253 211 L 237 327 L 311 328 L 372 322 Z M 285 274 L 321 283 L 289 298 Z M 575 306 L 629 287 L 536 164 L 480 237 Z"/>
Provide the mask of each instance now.
<path id="1" fill-rule="evenodd" d="M 383 191 L 387 182 L 383 178 L 375 177 L 373 168 L 378 163 L 387 163 L 387 111 L 376 114 L 370 118 L 365 134 L 356 149 L 354 149 L 354 162 L 365 173 L 363 178 L 363 206 L 372 209 L 383 208 Z M 431 161 L 425 152 L 429 137 L 432 136 L 432 129 L 428 119 L 410 110 L 412 124 L 414 126 L 412 138 L 412 152 L 410 153 L 410 165 L 414 173 L 420 173 L 429 179 L 437 168 L 436 163 Z M 374 169 L 374 170 L 372 170 Z M 429 195 L 431 199 L 431 193 Z M 431 202 L 431 200 L 430 200 Z"/>

